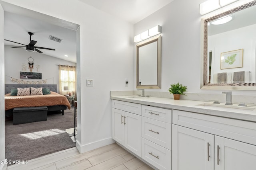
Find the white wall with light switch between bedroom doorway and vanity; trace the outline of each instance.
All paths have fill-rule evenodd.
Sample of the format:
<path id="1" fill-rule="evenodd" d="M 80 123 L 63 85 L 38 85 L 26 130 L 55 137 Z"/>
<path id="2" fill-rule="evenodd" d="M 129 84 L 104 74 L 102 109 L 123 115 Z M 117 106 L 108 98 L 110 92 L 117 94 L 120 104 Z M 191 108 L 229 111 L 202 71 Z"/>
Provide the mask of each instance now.
<path id="1" fill-rule="evenodd" d="M 134 89 L 132 25 L 78 0 L 4 1 L 80 25 L 77 146 L 84 152 L 112 143 L 110 90 Z"/>

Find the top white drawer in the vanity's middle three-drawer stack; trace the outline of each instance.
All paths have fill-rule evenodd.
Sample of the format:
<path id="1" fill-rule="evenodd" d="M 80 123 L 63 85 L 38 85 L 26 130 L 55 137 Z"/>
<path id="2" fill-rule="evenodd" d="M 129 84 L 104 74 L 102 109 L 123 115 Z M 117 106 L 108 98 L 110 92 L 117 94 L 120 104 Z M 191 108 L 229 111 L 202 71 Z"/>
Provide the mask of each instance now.
<path id="1" fill-rule="evenodd" d="M 172 110 L 142 105 L 142 116 L 172 123 Z"/>

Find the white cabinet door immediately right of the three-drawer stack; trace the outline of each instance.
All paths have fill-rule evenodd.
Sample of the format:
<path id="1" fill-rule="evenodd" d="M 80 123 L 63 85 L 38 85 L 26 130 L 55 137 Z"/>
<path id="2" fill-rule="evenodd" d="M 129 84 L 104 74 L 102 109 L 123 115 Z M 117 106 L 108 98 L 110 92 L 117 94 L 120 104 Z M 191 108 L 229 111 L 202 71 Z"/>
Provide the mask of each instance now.
<path id="1" fill-rule="evenodd" d="M 214 170 L 214 135 L 172 125 L 172 170 Z"/>

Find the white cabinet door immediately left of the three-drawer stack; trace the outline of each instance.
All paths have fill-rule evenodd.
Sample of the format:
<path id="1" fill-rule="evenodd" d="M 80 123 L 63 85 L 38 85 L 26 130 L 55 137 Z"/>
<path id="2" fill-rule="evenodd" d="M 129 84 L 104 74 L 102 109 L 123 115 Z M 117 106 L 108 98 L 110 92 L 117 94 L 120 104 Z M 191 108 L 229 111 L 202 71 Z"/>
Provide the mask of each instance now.
<path id="1" fill-rule="evenodd" d="M 124 113 L 124 146 L 141 156 L 141 116 L 129 112 Z"/>

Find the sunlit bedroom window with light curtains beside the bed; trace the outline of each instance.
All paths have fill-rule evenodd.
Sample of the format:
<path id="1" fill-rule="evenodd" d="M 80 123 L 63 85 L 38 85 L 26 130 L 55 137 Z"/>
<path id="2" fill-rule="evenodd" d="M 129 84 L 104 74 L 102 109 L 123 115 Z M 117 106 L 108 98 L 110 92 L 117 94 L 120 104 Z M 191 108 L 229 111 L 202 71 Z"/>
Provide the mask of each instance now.
<path id="1" fill-rule="evenodd" d="M 60 94 L 65 95 L 71 93 L 76 95 L 76 67 L 59 66 L 60 71 Z M 64 86 L 68 86 L 68 91 L 64 90 Z"/>

